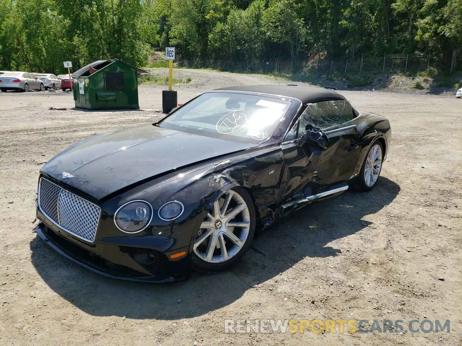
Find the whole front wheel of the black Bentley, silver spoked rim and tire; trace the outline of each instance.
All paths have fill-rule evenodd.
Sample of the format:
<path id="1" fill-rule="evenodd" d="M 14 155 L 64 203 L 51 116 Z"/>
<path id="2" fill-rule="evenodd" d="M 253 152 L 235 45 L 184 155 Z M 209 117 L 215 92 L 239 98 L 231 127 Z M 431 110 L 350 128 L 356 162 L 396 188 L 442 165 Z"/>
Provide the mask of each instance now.
<path id="1" fill-rule="evenodd" d="M 226 191 L 213 204 L 194 242 L 195 268 L 216 271 L 230 267 L 249 249 L 255 234 L 255 208 L 243 188 Z"/>

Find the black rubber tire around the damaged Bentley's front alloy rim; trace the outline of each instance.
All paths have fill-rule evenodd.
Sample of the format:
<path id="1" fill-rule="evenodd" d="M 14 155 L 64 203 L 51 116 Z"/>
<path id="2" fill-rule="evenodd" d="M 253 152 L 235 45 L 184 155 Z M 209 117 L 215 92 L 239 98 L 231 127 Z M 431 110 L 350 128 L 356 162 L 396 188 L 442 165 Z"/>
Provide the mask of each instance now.
<path id="1" fill-rule="evenodd" d="M 242 187 L 235 187 L 232 190 L 237 192 L 243 198 L 249 210 L 250 226 L 249 226 L 249 233 L 247 235 L 247 239 L 245 240 L 244 245 L 237 252 L 237 254 L 225 262 L 220 262 L 220 263 L 205 262 L 204 260 L 199 258 L 193 251 L 193 255 L 192 255 L 193 268 L 197 271 L 217 272 L 220 270 L 230 268 L 231 266 L 236 264 L 245 255 L 247 250 L 249 250 L 252 240 L 254 239 L 255 227 L 256 227 L 256 211 L 255 211 L 255 205 L 254 205 L 253 199 L 249 195 L 249 193 Z M 194 237 L 195 239 L 199 237 L 199 231 L 196 231 Z"/>

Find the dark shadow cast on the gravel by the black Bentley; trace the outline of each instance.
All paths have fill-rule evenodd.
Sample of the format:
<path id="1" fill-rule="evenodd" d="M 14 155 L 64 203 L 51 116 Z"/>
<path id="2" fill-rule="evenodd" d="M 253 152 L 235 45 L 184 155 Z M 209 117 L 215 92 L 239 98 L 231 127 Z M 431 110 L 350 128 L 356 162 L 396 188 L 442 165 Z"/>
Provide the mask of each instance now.
<path id="1" fill-rule="evenodd" d="M 190 280 L 178 284 L 102 277 L 61 257 L 38 236 L 30 242 L 31 261 L 51 289 L 93 316 L 160 320 L 201 316 L 234 303 L 256 284 L 273 279 L 307 257 L 346 254 L 349 249 L 337 249 L 329 243 L 373 226 L 362 221 L 363 216 L 383 209 L 399 191 L 399 185 L 381 177 L 370 192 L 346 191 L 313 203 L 262 231 L 231 270 L 193 273 Z"/>

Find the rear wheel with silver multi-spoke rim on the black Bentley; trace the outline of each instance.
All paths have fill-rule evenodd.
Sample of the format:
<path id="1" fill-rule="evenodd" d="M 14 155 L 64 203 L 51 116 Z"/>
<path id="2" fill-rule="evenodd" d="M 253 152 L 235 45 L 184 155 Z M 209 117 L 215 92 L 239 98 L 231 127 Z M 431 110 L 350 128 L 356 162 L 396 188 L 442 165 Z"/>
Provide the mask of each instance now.
<path id="1" fill-rule="evenodd" d="M 359 191 L 370 191 L 377 183 L 382 171 L 383 146 L 380 141 L 371 145 L 371 149 L 361 166 L 355 187 Z"/>

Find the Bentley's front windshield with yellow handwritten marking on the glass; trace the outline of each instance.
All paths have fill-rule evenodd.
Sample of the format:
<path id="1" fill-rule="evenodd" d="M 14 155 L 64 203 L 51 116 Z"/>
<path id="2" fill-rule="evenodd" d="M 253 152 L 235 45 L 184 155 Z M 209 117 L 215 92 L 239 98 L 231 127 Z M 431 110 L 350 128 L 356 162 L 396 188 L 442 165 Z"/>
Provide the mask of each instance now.
<path id="1" fill-rule="evenodd" d="M 225 140 L 261 143 L 279 125 L 291 101 L 235 93 L 206 93 L 179 108 L 160 127 Z"/>

